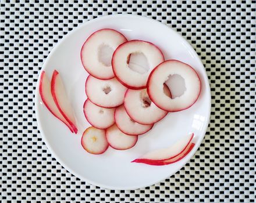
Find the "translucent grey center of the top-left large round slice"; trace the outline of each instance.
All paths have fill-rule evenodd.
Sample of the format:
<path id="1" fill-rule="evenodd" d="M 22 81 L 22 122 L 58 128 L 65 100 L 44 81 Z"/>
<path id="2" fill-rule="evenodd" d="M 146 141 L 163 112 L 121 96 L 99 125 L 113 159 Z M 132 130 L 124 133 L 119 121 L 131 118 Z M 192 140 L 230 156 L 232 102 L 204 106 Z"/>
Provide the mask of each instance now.
<path id="1" fill-rule="evenodd" d="M 114 49 L 110 46 L 102 44 L 99 46 L 98 50 L 98 60 L 105 66 L 111 66 L 112 55 L 114 53 Z"/>

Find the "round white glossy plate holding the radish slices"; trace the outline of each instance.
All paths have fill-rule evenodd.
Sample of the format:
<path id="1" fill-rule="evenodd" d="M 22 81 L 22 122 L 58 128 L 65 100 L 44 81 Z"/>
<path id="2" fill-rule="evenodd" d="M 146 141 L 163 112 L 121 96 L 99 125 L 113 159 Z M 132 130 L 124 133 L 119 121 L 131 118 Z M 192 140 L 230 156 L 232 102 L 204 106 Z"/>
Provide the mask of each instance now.
<path id="1" fill-rule="evenodd" d="M 101 28 L 113 28 L 127 39 L 150 41 L 162 49 L 165 59 L 177 59 L 195 68 L 200 75 L 202 90 L 197 102 L 188 110 L 169 113 L 146 135 L 139 137 L 130 150 L 118 151 L 111 147 L 102 155 L 92 155 L 81 147 L 81 135 L 88 126 L 83 114 L 86 100 L 84 82 L 88 73 L 80 61 L 80 49 L 87 37 Z M 138 189 L 151 186 L 173 175 L 182 168 L 200 146 L 207 130 L 211 111 L 211 93 L 205 68 L 189 43 L 177 32 L 156 20 L 129 14 L 99 17 L 70 32 L 52 49 L 42 70 L 51 77 L 56 69 L 61 74 L 67 94 L 72 101 L 79 133 L 74 135 L 56 119 L 35 95 L 38 127 L 47 147 L 67 171 L 86 182 L 108 189 Z M 175 164 L 150 166 L 131 163 L 148 151 L 168 147 L 188 133 L 195 133 L 195 147 L 189 155 Z M 199 162 L 199 160 L 195 160 Z"/>

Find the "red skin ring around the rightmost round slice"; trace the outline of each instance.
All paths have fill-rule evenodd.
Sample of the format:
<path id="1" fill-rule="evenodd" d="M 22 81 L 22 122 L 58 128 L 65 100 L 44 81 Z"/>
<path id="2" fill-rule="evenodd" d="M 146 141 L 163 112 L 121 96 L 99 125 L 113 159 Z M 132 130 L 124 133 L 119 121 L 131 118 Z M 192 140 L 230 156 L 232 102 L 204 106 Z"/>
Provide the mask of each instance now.
<path id="1" fill-rule="evenodd" d="M 172 60 L 166 60 L 166 61 L 178 61 L 178 62 L 180 62 L 180 63 L 184 63 L 184 62 L 182 62 L 182 61 L 174 60 L 174 59 L 172 59 Z M 166 61 L 163 61 L 162 63 L 165 63 Z M 152 93 L 150 92 L 150 88 L 148 88 L 148 87 L 150 86 L 150 78 L 151 78 L 152 74 L 154 74 L 155 70 L 157 70 L 157 68 L 158 68 L 162 63 L 158 64 L 158 66 L 156 66 L 156 67 L 151 71 L 150 75 L 148 76 L 148 81 L 147 81 L 147 93 L 148 93 L 148 96 L 150 97 L 151 100 L 152 100 Z M 186 63 L 184 63 L 184 64 L 186 64 Z M 186 64 L 186 65 L 189 66 L 190 68 L 192 68 L 189 64 Z M 195 74 L 197 74 L 197 72 L 194 70 L 194 68 L 192 68 L 192 70 L 195 72 Z M 200 81 L 200 90 L 199 90 L 199 94 L 198 94 L 198 96 L 197 96 L 197 99 L 198 99 L 198 97 L 200 96 L 200 93 L 201 93 L 202 84 L 201 84 L 201 80 L 200 80 L 200 77 L 199 77 L 198 74 L 197 74 L 197 77 L 199 78 L 199 81 Z M 193 106 L 193 104 L 194 104 L 195 102 L 197 102 L 197 99 L 195 99 L 195 101 L 194 101 L 189 107 L 187 107 L 187 108 L 180 108 L 180 109 L 177 109 L 177 110 L 175 110 L 175 111 L 169 111 L 169 110 L 164 109 L 163 107 L 159 106 L 159 104 L 157 104 L 157 102 L 154 102 L 154 100 L 152 100 L 152 102 L 154 102 L 157 107 L 161 108 L 161 109 L 164 110 L 164 111 L 168 111 L 168 112 L 177 112 L 177 111 L 183 111 L 183 110 L 186 110 L 186 109 L 190 108 L 191 106 Z"/>

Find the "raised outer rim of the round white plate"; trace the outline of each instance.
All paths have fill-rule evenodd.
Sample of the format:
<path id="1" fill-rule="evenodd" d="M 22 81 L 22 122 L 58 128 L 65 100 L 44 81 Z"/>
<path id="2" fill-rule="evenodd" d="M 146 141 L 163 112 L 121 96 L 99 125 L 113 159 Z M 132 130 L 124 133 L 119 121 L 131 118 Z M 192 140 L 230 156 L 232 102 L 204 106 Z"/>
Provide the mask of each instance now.
<path id="1" fill-rule="evenodd" d="M 195 52 L 193 46 L 191 46 L 189 44 L 189 42 L 187 42 L 187 40 L 185 38 L 183 38 L 182 35 L 179 34 L 179 32 L 173 30 L 171 27 L 167 26 L 165 23 L 162 23 L 161 21 L 152 19 L 152 18 L 147 17 L 147 16 L 140 16 L 140 15 L 137 15 L 137 14 L 109 14 L 109 15 L 106 15 L 106 16 L 99 16 L 95 19 L 87 20 L 86 22 L 80 24 L 78 27 L 74 28 L 72 31 L 69 31 L 66 35 L 64 35 L 64 37 L 54 45 L 54 47 L 50 51 L 49 55 L 47 56 L 47 58 L 43 62 L 41 70 L 39 71 L 39 74 L 38 74 L 37 86 L 36 86 L 36 89 L 35 89 L 35 99 L 34 99 L 35 117 L 37 119 L 37 128 L 40 131 L 40 134 L 42 136 L 42 140 L 45 143 L 45 145 L 47 146 L 49 152 L 52 154 L 52 156 L 55 158 L 55 160 L 57 162 L 59 162 L 59 164 L 61 166 L 63 166 L 63 168 L 65 168 L 68 172 L 72 173 L 72 175 L 78 177 L 81 181 L 85 181 L 86 183 L 90 183 L 90 184 L 93 184 L 94 186 L 101 187 L 102 189 L 111 189 L 111 190 L 143 189 L 145 187 L 149 187 L 149 186 L 152 186 L 152 185 L 157 184 L 159 182 L 162 182 L 163 180 L 167 179 L 168 177 L 170 177 L 172 175 L 175 175 L 178 171 L 180 171 L 180 169 L 182 169 L 190 161 L 190 159 L 194 156 L 194 154 L 197 152 L 198 148 L 200 147 L 200 145 L 202 143 L 202 140 L 204 139 L 205 133 L 207 132 L 207 129 L 208 129 L 208 126 L 209 126 L 209 121 L 210 121 L 210 118 L 211 118 L 211 105 L 212 105 L 211 104 L 211 88 L 210 88 L 210 85 L 209 85 L 209 78 L 208 78 L 208 75 L 207 75 L 207 71 L 205 70 L 205 67 L 204 67 L 204 72 L 205 72 L 205 75 L 207 76 L 207 80 L 205 80 L 205 94 L 208 94 L 208 97 L 209 97 L 209 101 L 208 101 L 209 102 L 209 110 L 208 110 L 209 114 L 208 114 L 208 118 L 206 119 L 207 125 L 205 125 L 205 127 L 202 131 L 202 132 L 204 132 L 204 136 L 202 136 L 201 139 L 199 140 L 200 144 L 198 144 L 198 147 L 194 148 L 193 151 L 191 151 L 191 153 L 187 156 L 187 162 L 184 165 L 180 166 L 179 168 L 177 168 L 177 170 L 175 170 L 175 172 L 168 174 L 168 176 L 166 176 L 165 178 L 163 178 L 161 180 L 158 180 L 157 182 L 152 181 L 152 182 L 149 182 L 147 184 L 143 184 L 141 186 L 134 186 L 134 187 L 115 187 L 115 186 L 109 186 L 109 185 L 97 183 L 97 182 L 94 182 L 93 180 L 88 179 L 87 177 L 80 176 L 79 174 L 74 172 L 73 169 L 69 168 L 69 166 L 67 166 L 65 164 L 65 161 L 63 161 L 62 158 L 60 158 L 55 153 L 54 148 L 52 148 L 51 144 L 48 143 L 47 136 L 44 135 L 44 131 L 43 131 L 42 126 L 41 126 L 40 116 L 38 115 L 38 111 L 39 111 L 38 110 L 38 108 L 39 108 L 38 104 L 40 103 L 40 96 L 39 96 L 39 91 L 38 91 L 39 90 L 39 84 L 40 84 L 40 76 L 41 76 L 42 71 L 44 71 L 44 69 L 45 69 L 45 66 L 46 66 L 45 64 L 47 64 L 48 60 L 51 59 L 51 55 L 55 51 L 55 49 L 58 48 L 58 46 L 60 44 L 62 44 L 62 42 L 65 41 L 65 39 L 67 37 L 69 37 L 69 35 L 73 34 L 73 32 L 76 32 L 77 30 L 81 29 L 81 27 L 87 26 L 88 24 L 91 24 L 91 23 L 95 23 L 95 22 L 97 22 L 99 20 L 102 20 L 102 19 L 109 19 L 109 18 L 112 18 L 112 17 L 133 17 L 133 18 L 137 18 L 137 19 L 148 20 L 148 21 L 151 21 L 152 23 L 161 24 L 161 26 L 164 26 L 164 27 L 168 28 L 169 30 L 171 30 L 172 32 L 175 32 L 177 35 L 179 35 L 179 37 L 183 40 L 183 42 L 187 46 L 189 46 L 189 48 L 191 48 L 191 50 L 193 50 L 193 54 L 199 59 L 201 66 L 204 67 L 204 64 L 202 63 L 200 56 L 198 56 L 197 52 Z"/>

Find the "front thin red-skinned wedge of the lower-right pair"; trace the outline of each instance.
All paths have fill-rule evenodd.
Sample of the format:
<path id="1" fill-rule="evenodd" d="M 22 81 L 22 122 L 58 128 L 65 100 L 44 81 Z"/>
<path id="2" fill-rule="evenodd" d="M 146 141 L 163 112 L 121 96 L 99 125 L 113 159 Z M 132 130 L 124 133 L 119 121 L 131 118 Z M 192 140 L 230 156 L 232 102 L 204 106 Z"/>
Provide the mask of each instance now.
<path id="1" fill-rule="evenodd" d="M 155 166 L 173 164 L 177 161 L 182 160 L 184 157 L 186 157 L 186 155 L 190 153 L 190 151 L 193 149 L 194 146 L 195 146 L 194 143 L 190 143 L 182 153 L 180 153 L 176 157 L 170 158 L 169 160 L 157 161 L 157 160 L 140 160 L 140 159 L 137 159 L 137 160 L 133 160 L 131 162 L 143 163 L 143 164 L 155 165 Z"/>

